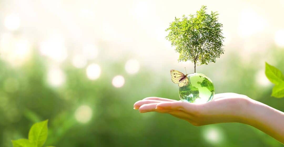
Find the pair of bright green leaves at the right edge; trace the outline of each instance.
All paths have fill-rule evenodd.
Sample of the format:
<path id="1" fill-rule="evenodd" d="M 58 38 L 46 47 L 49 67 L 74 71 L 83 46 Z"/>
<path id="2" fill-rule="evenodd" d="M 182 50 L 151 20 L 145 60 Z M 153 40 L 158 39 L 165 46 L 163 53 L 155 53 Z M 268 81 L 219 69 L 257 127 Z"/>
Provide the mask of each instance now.
<path id="1" fill-rule="evenodd" d="M 270 82 L 275 84 L 271 96 L 277 98 L 284 97 L 284 75 L 282 72 L 276 67 L 265 63 L 265 75 Z"/>

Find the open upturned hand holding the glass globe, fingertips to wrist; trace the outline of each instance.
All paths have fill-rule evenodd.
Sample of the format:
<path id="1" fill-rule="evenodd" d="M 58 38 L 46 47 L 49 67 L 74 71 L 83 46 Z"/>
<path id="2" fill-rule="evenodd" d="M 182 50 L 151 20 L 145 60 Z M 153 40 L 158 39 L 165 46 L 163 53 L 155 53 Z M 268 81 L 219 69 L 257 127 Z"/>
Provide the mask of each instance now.
<path id="1" fill-rule="evenodd" d="M 140 113 L 168 113 L 199 126 L 224 122 L 243 122 L 248 116 L 245 108 L 250 102 L 246 95 L 237 93 L 215 94 L 212 101 L 194 104 L 159 97 L 147 97 L 137 101 L 134 109 Z"/>

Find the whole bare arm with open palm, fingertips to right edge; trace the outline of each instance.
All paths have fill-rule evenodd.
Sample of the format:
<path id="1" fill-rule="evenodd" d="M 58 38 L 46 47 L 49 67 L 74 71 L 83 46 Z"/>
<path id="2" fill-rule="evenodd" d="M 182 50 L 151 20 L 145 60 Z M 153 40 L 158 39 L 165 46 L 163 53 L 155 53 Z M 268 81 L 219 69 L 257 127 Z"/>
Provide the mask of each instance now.
<path id="1" fill-rule="evenodd" d="M 137 101 L 140 113 L 168 113 L 195 126 L 239 122 L 251 125 L 284 144 L 284 112 L 237 93 L 215 94 L 212 101 L 194 104 L 160 97 Z"/>

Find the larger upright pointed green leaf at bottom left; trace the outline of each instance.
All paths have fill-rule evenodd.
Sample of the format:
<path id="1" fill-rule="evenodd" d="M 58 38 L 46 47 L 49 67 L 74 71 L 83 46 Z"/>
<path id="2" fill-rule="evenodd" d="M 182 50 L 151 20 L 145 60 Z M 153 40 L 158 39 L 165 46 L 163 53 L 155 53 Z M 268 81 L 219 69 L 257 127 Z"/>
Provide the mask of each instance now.
<path id="1" fill-rule="evenodd" d="M 35 123 L 29 131 L 29 141 L 36 143 L 37 147 L 41 147 L 47 139 L 47 122 Z"/>

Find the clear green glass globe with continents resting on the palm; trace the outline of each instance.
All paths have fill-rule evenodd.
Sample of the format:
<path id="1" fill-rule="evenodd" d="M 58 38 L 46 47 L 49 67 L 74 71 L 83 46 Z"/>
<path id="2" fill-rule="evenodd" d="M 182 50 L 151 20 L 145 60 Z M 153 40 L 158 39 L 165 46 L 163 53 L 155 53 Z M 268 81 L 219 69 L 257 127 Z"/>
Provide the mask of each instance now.
<path id="1" fill-rule="evenodd" d="M 210 78 L 201 73 L 188 74 L 189 83 L 179 88 L 181 101 L 206 103 L 213 99 L 214 85 Z"/>

